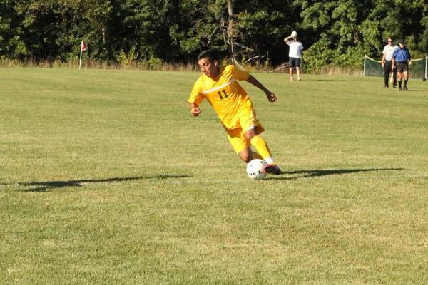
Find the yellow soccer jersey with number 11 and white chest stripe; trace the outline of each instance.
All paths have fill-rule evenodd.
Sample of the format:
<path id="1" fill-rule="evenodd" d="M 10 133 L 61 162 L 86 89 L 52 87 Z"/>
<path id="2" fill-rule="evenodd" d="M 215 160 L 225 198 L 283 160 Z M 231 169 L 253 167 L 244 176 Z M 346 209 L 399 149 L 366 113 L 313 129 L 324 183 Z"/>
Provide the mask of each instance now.
<path id="1" fill-rule="evenodd" d="M 247 92 L 237 81 L 246 80 L 248 76 L 248 71 L 233 65 L 221 68 L 218 81 L 203 74 L 193 85 L 188 102 L 200 105 L 204 98 L 207 99 L 225 128 L 238 128 L 241 108 L 253 108 Z"/>

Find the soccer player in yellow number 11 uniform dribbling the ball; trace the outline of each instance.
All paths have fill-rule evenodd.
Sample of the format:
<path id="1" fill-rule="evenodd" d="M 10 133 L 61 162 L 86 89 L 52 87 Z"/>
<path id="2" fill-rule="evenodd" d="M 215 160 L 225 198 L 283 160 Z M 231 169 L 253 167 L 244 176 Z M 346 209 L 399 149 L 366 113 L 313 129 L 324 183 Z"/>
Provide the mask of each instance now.
<path id="1" fill-rule="evenodd" d="M 188 99 L 190 113 L 194 117 L 200 115 L 200 103 L 203 99 L 208 100 L 240 158 L 246 163 L 254 158 L 263 158 L 267 162 L 265 172 L 280 175 L 280 167 L 276 165 L 267 143 L 260 136 L 264 129 L 256 118 L 253 103 L 238 81 L 247 81 L 260 88 L 270 102 L 276 102 L 275 94 L 267 90 L 248 71 L 233 65 L 220 67 L 219 58 L 214 51 L 200 53 L 198 65 L 203 74 L 193 85 Z M 253 152 L 251 146 L 255 147 L 258 153 Z"/>

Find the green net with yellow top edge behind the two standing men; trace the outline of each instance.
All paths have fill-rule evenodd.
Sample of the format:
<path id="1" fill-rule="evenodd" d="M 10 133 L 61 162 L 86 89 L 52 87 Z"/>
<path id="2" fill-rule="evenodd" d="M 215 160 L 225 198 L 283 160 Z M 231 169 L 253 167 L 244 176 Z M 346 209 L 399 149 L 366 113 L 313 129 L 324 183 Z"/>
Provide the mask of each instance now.
<path id="1" fill-rule="evenodd" d="M 411 78 L 421 78 L 427 80 L 428 56 L 425 58 L 412 59 L 412 64 L 409 66 Z M 365 76 L 384 76 L 384 71 L 381 61 L 377 61 L 368 56 L 364 57 L 364 75 Z"/>

